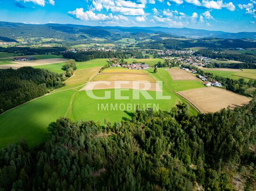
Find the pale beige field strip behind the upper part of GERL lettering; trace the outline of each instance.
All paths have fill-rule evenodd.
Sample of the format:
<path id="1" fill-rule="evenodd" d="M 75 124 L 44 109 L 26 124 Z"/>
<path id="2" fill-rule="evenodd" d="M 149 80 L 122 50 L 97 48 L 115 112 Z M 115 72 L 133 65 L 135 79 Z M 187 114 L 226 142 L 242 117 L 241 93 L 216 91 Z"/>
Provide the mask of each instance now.
<path id="1" fill-rule="evenodd" d="M 157 83 L 139 82 L 139 81 L 97 81 L 90 82 L 81 90 L 104 90 L 104 89 L 136 89 L 160 92 L 160 86 Z M 80 91 L 81 91 L 80 90 Z"/>

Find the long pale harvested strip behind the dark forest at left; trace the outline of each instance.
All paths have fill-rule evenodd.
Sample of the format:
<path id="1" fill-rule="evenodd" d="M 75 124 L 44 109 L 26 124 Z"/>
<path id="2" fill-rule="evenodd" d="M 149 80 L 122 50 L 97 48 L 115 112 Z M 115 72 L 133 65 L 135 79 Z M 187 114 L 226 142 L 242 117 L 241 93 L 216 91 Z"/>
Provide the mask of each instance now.
<path id="1" fill-rule="evenodd" d="M 47 64 L 55 64 L 59 62 L 67 61 L 64 58 L 51 58 L 51 59 L 42 59 L 42 60 L 35 60 L 35 61 L 11 61 L 13 64 L 5 64 L 0 65 L 1 69 L 18 69 L 24 66 L 41 66 Z"/>

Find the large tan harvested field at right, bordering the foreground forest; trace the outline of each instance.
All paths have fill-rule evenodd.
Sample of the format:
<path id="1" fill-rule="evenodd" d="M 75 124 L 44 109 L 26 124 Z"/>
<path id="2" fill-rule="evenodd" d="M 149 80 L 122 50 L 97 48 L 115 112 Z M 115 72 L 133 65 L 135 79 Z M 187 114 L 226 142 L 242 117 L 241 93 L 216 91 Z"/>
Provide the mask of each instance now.
<path id="1" fill-rule="evenodd" d="M 211 113 L 222 108 L 243 106 L 251 100 L 248 97 L 221 88 L 208 87 L 177 92 L 187 99 L 201 113 Z"/>

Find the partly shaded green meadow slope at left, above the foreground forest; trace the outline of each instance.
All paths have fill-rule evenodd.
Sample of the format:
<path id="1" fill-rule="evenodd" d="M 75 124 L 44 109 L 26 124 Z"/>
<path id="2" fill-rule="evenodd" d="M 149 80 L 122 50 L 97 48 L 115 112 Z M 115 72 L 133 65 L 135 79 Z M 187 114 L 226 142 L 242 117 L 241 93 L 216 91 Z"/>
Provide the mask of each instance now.
<path id="1" fill-rule="evenodd" d="M 64 116 L 74 90 L 50 94 L 0 115 L 0 148 L 25 138 L 29 145 L 43 142 L 47 126 Z"/>

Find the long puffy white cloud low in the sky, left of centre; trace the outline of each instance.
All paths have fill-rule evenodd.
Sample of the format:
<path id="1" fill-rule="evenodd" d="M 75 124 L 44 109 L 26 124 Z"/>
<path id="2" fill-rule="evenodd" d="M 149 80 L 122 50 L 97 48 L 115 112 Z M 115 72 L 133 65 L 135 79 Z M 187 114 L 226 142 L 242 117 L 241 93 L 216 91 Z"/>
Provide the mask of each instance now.
<path id="1" fill-rule="evenodd" d="M 83 12 L 83 8 L 76 8 L 74 11 L 69 11 L 68 14 L 74 15 L 77 19 L 83 21 L 108 21 L 108 20 L 116 20 L 116 21 L 128 21 L 128 18 L 124 15 L 113 15 L 110 13 L 109 15 L 104 14 L 95 14 L 91 10 Z"/>

